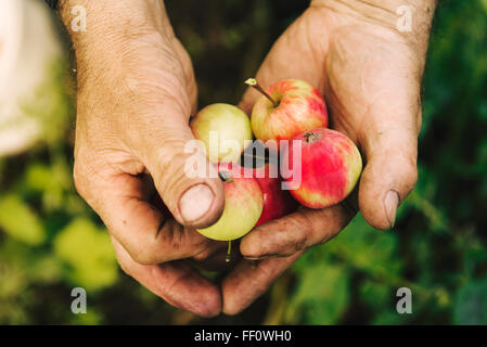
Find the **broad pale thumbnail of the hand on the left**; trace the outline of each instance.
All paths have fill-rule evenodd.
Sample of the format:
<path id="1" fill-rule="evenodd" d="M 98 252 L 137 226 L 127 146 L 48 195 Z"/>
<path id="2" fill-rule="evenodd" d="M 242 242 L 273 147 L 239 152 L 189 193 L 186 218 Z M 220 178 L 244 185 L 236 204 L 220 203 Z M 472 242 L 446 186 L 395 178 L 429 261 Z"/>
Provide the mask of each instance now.
<path id="1" fill-rule="evenodd" d="M 215 195 L 206 184 L 197 184 L 184 192 L 179 200 L 179 211 L 187 222 L 202 218 L 212 207 Z"/>

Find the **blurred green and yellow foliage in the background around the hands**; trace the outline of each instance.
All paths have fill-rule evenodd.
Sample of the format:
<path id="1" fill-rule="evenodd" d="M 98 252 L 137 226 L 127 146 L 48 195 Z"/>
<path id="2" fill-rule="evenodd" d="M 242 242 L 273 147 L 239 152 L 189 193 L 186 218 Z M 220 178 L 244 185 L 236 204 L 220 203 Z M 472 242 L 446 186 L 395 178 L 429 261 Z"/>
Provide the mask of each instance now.
<path id="1" fill-rule="evenodd" d="M 238 103 L 246 77 L 300 1 L 169 1 L 201 105 Z M 357 216 L 310 249 L 238 317 L 203 320 L 171 308 L 118 270 L 103 224 L 72 180 L 74 88 L 55 62 L 26 112 L 48 124 L 28 153 L 0 159 L 0 323 L 487 324 L 487 1 L 445 0 L 424 79 L 420 178 L 396 228 Z M 40 110 L 42 111 L 41 113 Z M 69 311 L 88 291 L 89 313 Z M 398 314 L 396 291 L 412 291 Z"/>

